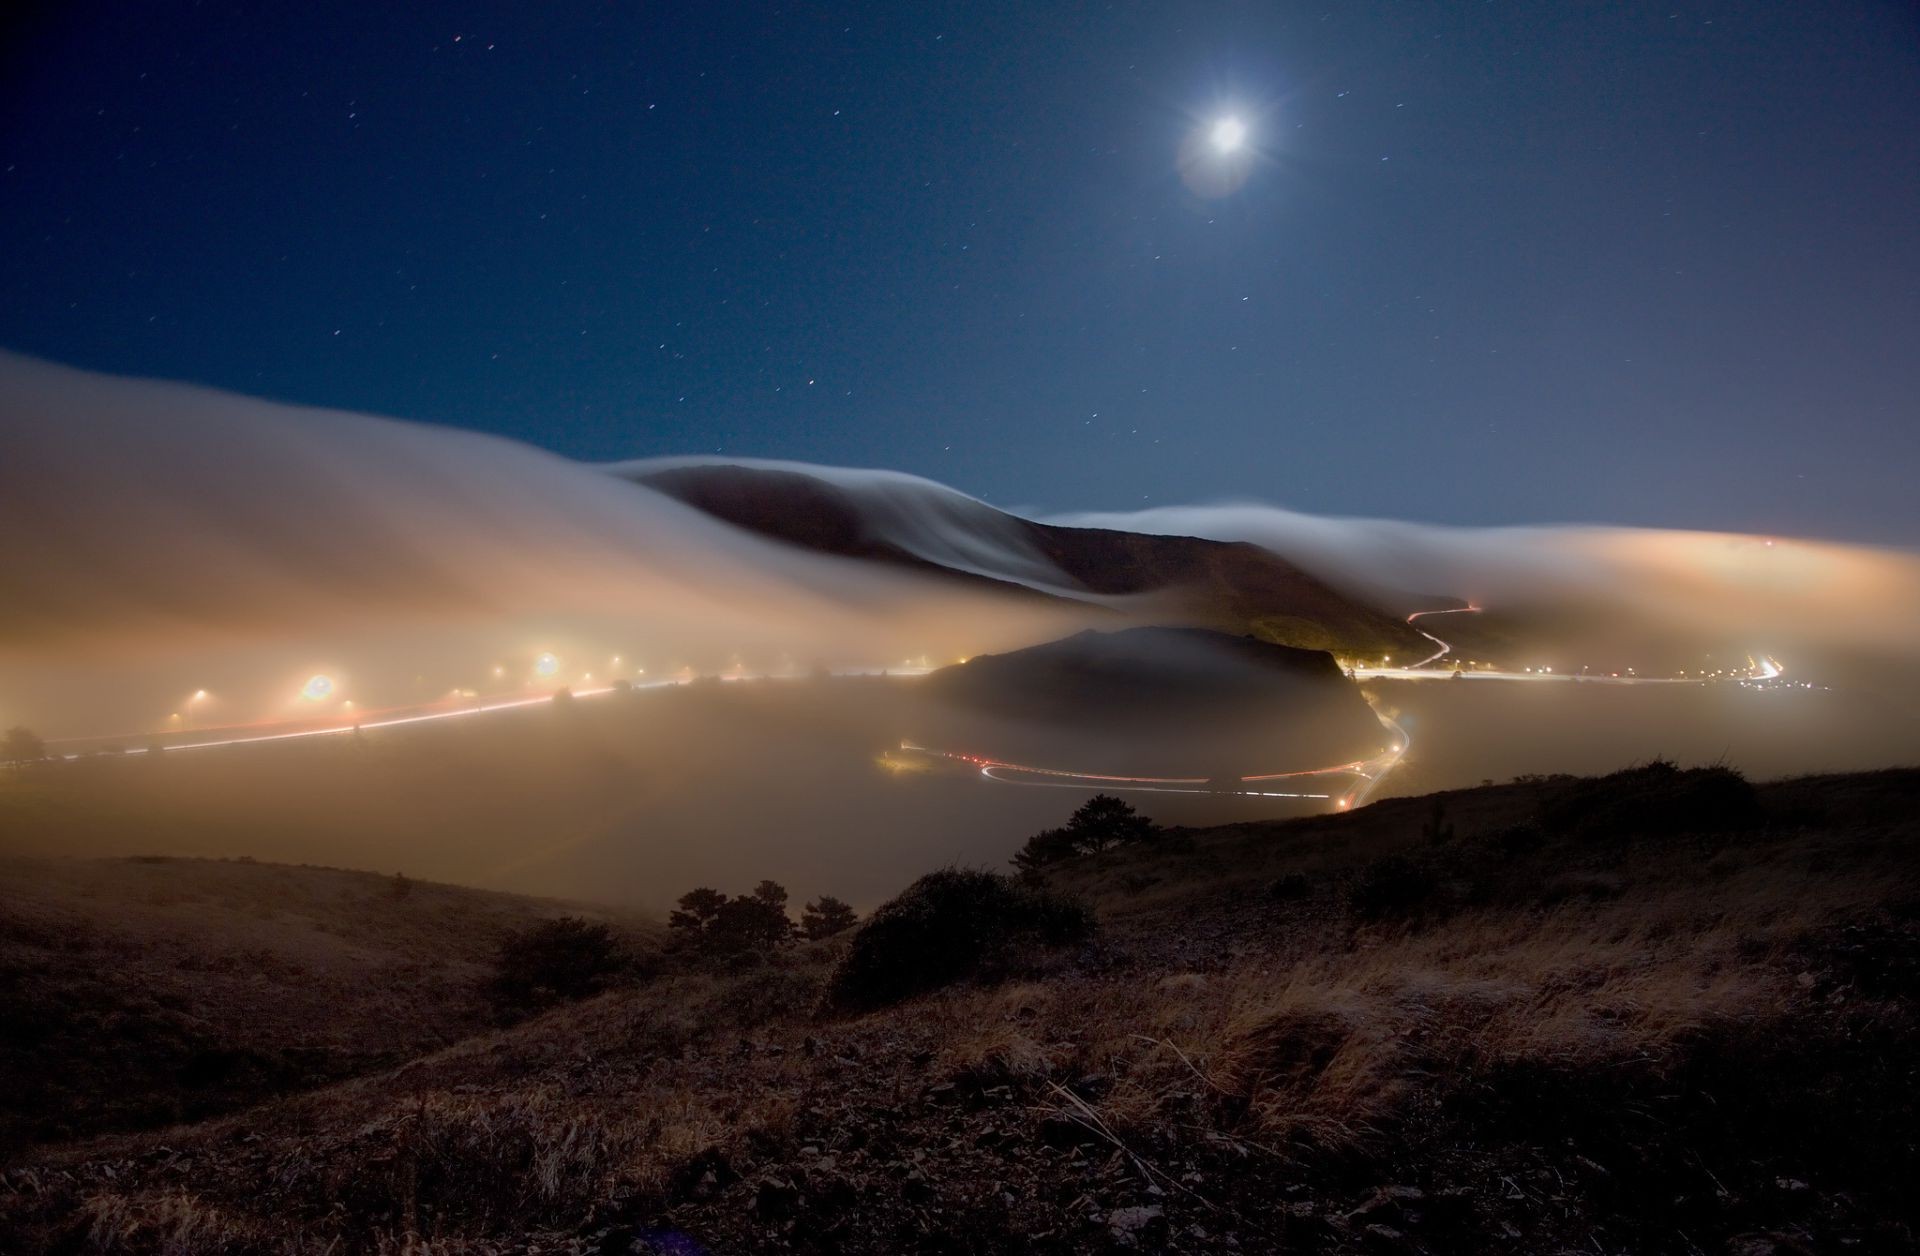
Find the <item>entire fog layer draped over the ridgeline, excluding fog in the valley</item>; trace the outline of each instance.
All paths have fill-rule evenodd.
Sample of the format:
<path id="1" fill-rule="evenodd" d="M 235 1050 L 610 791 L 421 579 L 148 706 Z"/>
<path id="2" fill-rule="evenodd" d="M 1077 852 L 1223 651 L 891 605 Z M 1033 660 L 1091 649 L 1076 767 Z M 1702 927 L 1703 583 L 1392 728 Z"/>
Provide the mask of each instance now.
<path id="1" fill-rule="evenodd" d="M 555 684 L 582 682 L 612 653 L 653 674 L 939 664 L 1117 626 L 1114 611 L 1150 605 L 1087 593 L 1020 517 L 893 471 L 707 457 L 597 467 L 461 428 L 12 353 L 0 353 L 0 722 L 48 736 L 156 728 L 198 688 L 227 699 L 221 720 L 298 714 L 292 693 L 315 670 L 367 703 L 420 701 L 495 666 L 520 680 L 541 651 L 563 661 Z M 810 553 L 641 482 L 712 465 L 810 478 L 900 551 L 1056 601 Z M 1035 519 L 1252 542 L 1371 599 L 1463 597 L 1594 632 L 1651 626 L 1845 676 L 1891 666 L 1901 686 L 1920 670 L 1908 551 L 1267 505 Z"/>

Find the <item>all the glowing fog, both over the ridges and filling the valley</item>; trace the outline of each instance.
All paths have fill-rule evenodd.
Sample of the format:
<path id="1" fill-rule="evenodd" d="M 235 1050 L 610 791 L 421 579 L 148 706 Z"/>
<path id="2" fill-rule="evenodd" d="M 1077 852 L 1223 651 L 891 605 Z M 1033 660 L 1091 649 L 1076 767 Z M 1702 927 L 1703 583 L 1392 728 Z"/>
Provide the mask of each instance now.
<path id="1" fill-rule="evenodd" d="M 48 737 L 138 745 L 192 728 L 346 724 L 614 678 L 918 670 L 1114 628 L 1127 611 L 806 555 L 513 442 L 21 357 L 0 355 L 0 726 Z M 891 472 L 822 474 L 877 486 L 872 522 L 908 553 L 1071 588 L 996 530 L 985 503 Z M 1254 540 L 1382 605 L 1473 599 L 1488 620 L 1557 634 L 1559 651 L 1766 653 L 1789 680 L 1830 686 L 1373 680 L 1375 709 L 1411 736 L 1386 793 L 1653 755 L 1755 776 L 1920 761 L 1920 563 L 1908 553 L 1267 507 L 1066 522 Z M 328 691 L 301 697 L 315 674 Z M 1004 860 L 1089 793 L 902 762 L 891 755 L 902 737 L 1027 743 L 1012 726 L 943 724 L 922 689 L 910 678 L 707 682 L 48 764 L 0 780 L 0 847 L 248 855 L 647 906 L 695 883 L 772 876 L 799 895 L 870 905 L 945 862 Z M 1284 732 L 1288 755 L 1311 749 L 1311 730 Z M 1102 736 L 1085 737 L 1087 761 L 1044 766 L 1102 770 L 1112 730 Z M 1354 751 L 1329 743 L 1334 753 Z M 1273 770 L 1298 766 L 1319 764 Z M 1129 797 L 1187 824 L 1311 809 Z"/>

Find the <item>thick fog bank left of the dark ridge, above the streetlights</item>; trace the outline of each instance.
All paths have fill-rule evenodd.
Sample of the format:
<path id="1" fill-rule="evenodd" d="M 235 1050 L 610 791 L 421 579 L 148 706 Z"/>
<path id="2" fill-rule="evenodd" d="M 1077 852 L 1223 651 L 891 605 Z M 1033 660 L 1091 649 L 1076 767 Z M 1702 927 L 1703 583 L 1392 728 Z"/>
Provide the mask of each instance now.
<path id="1" fill-rule="evenodd" d="M 1092 611 L 810 557 L 505 440 L 0 355 L 0 722 L 42 736 L 455 688 L 945 663 Z M 31 538 L 31 543 L 23 543 Z M 501 676 L 495 676 L 495 668 Z M 501 686 L 493 682 L 501 680 Z"/>

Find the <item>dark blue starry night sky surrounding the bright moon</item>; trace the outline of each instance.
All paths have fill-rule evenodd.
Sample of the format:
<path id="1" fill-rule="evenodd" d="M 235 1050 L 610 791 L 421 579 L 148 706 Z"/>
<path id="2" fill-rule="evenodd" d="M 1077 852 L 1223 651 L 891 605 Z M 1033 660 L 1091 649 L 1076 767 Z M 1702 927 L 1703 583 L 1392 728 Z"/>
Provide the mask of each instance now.
<path id="1" fill-rule="evenodd" d="M 1010 505 L 1920 543 L 1905 4 L 52 8 L 8 348 Z"/>

